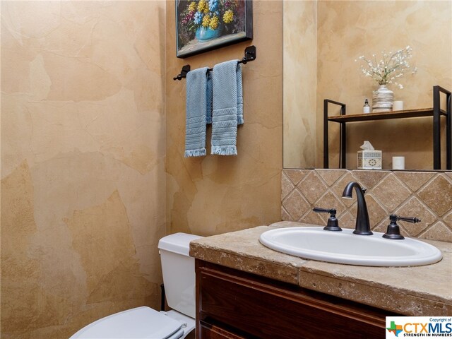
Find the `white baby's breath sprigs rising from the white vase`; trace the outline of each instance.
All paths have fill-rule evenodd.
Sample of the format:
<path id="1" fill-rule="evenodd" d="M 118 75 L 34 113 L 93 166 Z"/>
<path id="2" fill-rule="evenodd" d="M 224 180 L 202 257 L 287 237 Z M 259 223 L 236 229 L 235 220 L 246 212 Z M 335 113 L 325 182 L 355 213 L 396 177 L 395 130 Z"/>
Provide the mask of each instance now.
<path id="1" fill-rule="evenodd" d="M 398 88 L 402 89 L 403 85 L 398 83 L 398 78 L 403 76 L 405 71 L 411 71 L 412 74 L 417 71 L 416 67 L 412 69 L 408 63 L 408 59 L 412 56 L 411 51 L 412 48 L 410 46 L 399 49 L 395 53 L 386 53 L 383 51 L 381 52 L 381 59 L 379 61 L 376 60 L 375 54 L 372 54 L 372 59 L 367 59 L 362 55 L 358 58 L 364 61 L 364 65 L 361 65 L 361 71 L 364 76 L 371 77 L 379 85 L 394 83 L 398 85 Z"/>

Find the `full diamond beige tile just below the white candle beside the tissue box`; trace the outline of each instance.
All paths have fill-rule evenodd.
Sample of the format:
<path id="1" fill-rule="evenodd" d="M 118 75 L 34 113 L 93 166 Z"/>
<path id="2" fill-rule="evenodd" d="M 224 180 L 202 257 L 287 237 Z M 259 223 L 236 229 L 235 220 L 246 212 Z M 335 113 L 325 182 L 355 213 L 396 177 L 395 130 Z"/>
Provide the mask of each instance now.
<path id="1" fill-rule="evenodd" d="M 391 173 L 372 189 L 372 195 L 385 208 L 394 210 L 410 196 L 410 190 Z"/>

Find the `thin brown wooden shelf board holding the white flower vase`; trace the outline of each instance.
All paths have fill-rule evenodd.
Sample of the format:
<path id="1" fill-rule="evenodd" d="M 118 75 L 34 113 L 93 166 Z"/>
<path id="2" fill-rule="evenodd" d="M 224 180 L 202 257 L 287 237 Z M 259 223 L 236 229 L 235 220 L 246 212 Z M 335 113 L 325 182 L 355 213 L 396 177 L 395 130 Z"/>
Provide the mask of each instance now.
<path id="1" fill-rule="evenodd" d="M 441 115 L 446 115 L 446 112 L 441 109 Z M 370 120 L 386 120 L 386 119 L 401 119 L 401 118 L 418 118 L 418 117 L 433 117 L 433 108 L 420 109 L 405 109 L 403 111 L 366 113 L 366 114 L 345 114 L 328 117 L 328 121 L 335 122 L 353 122 L 353 121 L 370 121 Z"/>

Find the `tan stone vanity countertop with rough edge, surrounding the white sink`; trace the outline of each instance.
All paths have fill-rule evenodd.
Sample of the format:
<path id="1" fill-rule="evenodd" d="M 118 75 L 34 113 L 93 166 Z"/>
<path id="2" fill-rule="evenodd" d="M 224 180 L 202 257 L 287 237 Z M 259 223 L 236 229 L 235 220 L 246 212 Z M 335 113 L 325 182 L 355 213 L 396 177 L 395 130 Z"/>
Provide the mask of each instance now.
<path id="1" fill-rule="evenodd" d="M 452 314 L 452 243 L 423 239 L 443 252 L 432 265 L 366 267 L 306 260 L 268 249 L 258 240 L 267 230 L 294 226 L 307 225 L 277 222 L 196 239 L 190 256 L 400 314 Z"/>

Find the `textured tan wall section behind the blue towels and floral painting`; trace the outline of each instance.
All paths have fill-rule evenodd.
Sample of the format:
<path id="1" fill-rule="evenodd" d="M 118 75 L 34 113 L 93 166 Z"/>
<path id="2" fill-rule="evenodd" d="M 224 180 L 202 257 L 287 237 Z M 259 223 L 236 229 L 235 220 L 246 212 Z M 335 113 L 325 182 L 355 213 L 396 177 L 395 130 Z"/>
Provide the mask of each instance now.
<path id="1" fill-rule="evenodd" d="M 254 1 L 254 39 L 186 59 L 177 59 L 174 1 L 167 3 L 167 222 L 169 232 L 216 234 L 280 220 L 282 168 L 283 3 Z M 234 156 L 184 158 L 185 81 L 172 81 L 184 64 L 192 69 L 241 59 L 244 125 Z M 210 141 L 210 126 L 208 128 Z M 208 143 L 208 153 L 210 144 Z"/>

